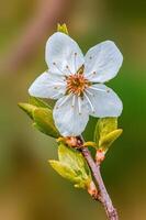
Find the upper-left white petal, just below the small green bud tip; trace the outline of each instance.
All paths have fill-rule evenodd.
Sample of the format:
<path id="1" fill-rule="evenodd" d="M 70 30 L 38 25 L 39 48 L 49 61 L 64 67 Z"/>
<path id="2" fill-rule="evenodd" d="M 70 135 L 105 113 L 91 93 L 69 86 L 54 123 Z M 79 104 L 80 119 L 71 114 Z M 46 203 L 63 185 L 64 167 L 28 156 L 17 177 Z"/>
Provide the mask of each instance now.
<path id="1" fill-rule="evenodd" d="M 68 35 L 57 32 L 46 43 L 45 59 L 53 73 L 75 74 L 85 63 L 78 44 Z"/>

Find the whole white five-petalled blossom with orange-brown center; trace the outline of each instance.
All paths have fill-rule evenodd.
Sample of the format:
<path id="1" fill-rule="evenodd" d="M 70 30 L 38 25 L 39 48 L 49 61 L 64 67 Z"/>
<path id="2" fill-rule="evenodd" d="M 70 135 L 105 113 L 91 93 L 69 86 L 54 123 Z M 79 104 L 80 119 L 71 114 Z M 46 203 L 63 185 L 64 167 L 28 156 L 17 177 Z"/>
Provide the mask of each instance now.
<path id="1" fill-rule="evenodd" d="M 29 89 L 31 96 L 58 99 L 54 121 L 64 136 L 80 135 L 89 116 L 119 117 L 123 105 L 105 85 L 117 74 L 123 56 L 112 41 L 91 47 L 83 56 L 78 44 L 57 32 L 47 43 L 45 59 L 48 70 Z"/>

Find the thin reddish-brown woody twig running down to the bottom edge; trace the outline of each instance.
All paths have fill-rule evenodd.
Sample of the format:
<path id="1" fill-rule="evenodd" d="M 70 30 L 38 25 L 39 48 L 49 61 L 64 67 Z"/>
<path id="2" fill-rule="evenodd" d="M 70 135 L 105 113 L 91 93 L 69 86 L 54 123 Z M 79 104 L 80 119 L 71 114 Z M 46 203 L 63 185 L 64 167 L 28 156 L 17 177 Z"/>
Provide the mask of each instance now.
<path id="1" fill-rule="evenodd" d="M 80 136 L 81 141 L 83 142 L 82 138 Z M 86 161 L 88 162 L 92 174 L 94 176 L 96 182 L 98 183 L 99 186 L 99 190 L 100 190 L 100 201 L 103 205 L 105 212 L 106 212 L 106 217 L 109 220 L 119 220 L 119 216 L 116 212 L 116 209 L 113 207 L 112 205 L 112 200 L 106 191 L 106 188 L 104 186 L 101 173 L 100 173 L 100 165 L 96 164 L 96 162 L 93 161 L 90 151 L 87 147 L 81 147 L 80 148 L 83 157 L 86 158 Z"/>

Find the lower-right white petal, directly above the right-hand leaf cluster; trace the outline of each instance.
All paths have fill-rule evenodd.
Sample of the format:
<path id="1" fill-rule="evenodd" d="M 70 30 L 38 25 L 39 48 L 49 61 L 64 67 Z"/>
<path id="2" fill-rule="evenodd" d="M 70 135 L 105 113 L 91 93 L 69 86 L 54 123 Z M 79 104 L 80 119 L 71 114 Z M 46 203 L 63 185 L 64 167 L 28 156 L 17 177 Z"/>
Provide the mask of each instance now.
<path id="1" fill-rule="evenodd" d="M 90 114 L 98 118 L 119 117 L 122 113 L 123 105 L 117 95 L 105 85 L 97 84 L 89 89 L 88 98 L 93 110 Z"/>

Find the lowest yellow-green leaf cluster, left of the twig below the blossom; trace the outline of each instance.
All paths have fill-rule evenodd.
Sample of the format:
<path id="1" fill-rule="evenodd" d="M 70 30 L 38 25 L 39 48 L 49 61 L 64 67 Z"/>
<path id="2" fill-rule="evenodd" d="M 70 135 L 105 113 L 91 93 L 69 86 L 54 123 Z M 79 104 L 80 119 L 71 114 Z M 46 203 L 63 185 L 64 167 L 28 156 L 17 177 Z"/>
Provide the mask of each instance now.
<path id="1" fill-rule="evenodd" d="M 77 150 L 60 144 L 58 147 L 59 161 L 49 161 L 53 168 L 63 177 L 75 184 L 75 187 L 87 188 L 91 183 L 90 169 Z"/>

